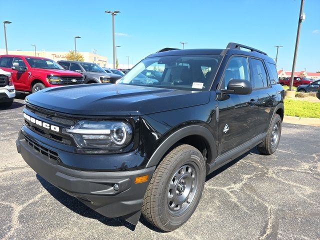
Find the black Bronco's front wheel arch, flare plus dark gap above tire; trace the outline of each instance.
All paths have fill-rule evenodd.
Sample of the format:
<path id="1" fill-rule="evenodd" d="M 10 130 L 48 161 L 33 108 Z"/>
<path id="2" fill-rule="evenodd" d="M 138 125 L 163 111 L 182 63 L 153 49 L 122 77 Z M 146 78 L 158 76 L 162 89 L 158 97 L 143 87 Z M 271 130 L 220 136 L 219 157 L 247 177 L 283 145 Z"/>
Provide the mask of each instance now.
<path id="1" fill-rule="evenodd" d="M 204 126 L 189 125 L 167 136 L 153 152 L 145 167 L 159 164 L 170 150 L 180 144 L 189 144 L 197 148 L 206 163 L 213 162 L 217 154 L 216 143 L 212 133 Z"/>

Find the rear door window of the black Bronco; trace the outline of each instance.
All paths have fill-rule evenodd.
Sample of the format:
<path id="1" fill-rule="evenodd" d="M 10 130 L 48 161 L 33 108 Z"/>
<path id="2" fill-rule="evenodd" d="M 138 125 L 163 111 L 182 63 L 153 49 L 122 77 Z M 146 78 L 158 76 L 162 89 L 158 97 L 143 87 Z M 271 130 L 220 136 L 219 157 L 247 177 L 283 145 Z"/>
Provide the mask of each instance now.
<path id="1" fill-rule="evenodd" d="M 252 80 L 254 83 L 254 88 L 262 88 L 267 86 L 266 72 L 263 63 L 259 59 L 250 58 L 251 61 L 251 71 Z"/>

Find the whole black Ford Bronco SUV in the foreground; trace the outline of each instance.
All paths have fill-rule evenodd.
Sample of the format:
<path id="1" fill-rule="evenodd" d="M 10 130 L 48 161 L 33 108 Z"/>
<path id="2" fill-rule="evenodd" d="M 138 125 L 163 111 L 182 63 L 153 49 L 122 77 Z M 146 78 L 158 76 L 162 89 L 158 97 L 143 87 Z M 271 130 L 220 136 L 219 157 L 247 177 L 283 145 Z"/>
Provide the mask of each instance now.
<path id="1" fill-rule="evenodd" d="M 135 81 L 154 68 L 159 80 Z M 17 151 L 102 215 L 136 224 L 142 212 L 171 231 L 192 215 L 207 174 L 255 146 L 276 150 L 284 109 L 277 80 L 273 59 L 241 44 L 164 48 L 117 84 L 27 96 Z"/>

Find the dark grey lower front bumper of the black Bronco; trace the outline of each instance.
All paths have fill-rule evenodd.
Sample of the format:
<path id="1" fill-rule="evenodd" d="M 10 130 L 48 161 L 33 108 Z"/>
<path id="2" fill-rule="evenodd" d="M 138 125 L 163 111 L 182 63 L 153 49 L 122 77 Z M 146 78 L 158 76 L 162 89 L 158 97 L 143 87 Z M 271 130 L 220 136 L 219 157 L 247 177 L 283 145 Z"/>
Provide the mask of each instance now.
<path id="1" fill-rule="evenodd" d="M 155 166 L 131 171 L 75 170 L 59 165 L 49 154 L 43 154 L 44 148 L 36 150 L 31 147 L 23 136 L 20 131 L 16 140 L 17 151 L 41 177 L 104 216 L 123 216 L 127 221 L 137 223 L 143 196 Z M 107 155 L 105 158 L 107 161 Z M 149 175 L 147 182 L 134 182 L 136 176 L 146 174 Z M 118 184 L 118 190 L 113 189 L 115 183 Z"/>

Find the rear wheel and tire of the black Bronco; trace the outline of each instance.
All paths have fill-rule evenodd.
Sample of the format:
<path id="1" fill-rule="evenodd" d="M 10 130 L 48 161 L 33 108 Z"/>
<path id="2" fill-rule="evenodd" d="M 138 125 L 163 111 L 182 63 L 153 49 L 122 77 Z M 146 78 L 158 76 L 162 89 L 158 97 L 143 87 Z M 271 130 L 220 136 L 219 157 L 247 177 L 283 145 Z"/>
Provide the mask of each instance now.
<path id="1" fill-rule="evenodd" d="M 281 117 L 274 113 L 270 126 L 266 131 L 266 137 L 262 144 L 257 145 L 259 152 L 265 155 L 271 155 L 278 147 L 281 136 Z"/>

